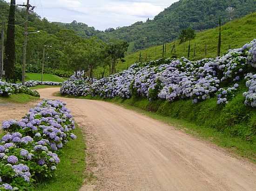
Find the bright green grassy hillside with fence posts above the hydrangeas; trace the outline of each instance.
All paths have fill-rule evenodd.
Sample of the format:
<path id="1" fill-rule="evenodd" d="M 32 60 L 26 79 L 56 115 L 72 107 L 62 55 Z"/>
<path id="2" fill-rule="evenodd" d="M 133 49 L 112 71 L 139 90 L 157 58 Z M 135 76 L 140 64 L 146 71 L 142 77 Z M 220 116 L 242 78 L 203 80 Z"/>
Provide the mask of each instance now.
<path id="1" fill-rule="evenodd" d="M 249 14 L 242 19 L 235 19 L 222 26 L 222 54 L 230 48 L 239 48 L 245 43 L 256 38 L 256 13 Z M 179 45 L 178 41 L 167 44 L 165 57 L 171 57 L 173 45 L 176 47 L 178 57 L 188 56 L 188 42 L 185 44 L 185 52 L 183 52 L 183 44 Z M 196 51 L 194 57 L 194 45 Z M 205 44 L 207 45 L 207 54 L 205 55 Z M 196 33 L 196 37 L 191 41 L 190 60 L 198 60 L 206 57 L 216 57 L 218 45 L 218 28 L 206 30 Z M 156 51 L 155 51 L 156 50 Z M 153 46 L 143 51 L 138 51 L 125 57 L 125 63 L 119 63 L 117 70 L 125 70 L 131 64 L 139 61 L 140 53 L 143 61 L 159 59 L 162 57 L 162 45 Z M 146 59 L 148 57 L 148 59 Z"/>

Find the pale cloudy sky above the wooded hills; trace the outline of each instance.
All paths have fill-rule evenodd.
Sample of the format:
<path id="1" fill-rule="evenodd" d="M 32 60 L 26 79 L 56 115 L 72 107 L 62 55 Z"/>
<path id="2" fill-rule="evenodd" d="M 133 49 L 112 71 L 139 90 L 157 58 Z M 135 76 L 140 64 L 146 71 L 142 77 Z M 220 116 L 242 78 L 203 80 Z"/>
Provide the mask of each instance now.
<path id="1" fill-rule="evenodd" d="M 97 30 L 128 26 L 155 15 L 178 0 L 30 0 L 35 12 L 49 21 L 71 23 L 73 20 Z M 10 0 L 7 0 L 10 2 Z M 26 0 L 16 0 L 23 4 Z"/>

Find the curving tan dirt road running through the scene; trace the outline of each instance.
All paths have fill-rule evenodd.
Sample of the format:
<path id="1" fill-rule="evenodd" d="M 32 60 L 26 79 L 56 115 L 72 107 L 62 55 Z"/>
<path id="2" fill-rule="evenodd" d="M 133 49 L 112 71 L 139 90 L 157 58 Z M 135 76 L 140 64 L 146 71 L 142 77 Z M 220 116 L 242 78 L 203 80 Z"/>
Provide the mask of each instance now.
<path id="1" fill-rule="evenodd" d="M 39 90 L 42 97 L 55 99 L 56 91 Z M 93 137 L 96 190 L 256 191 L 256 165 L 216 146 L 115 104 L 60 99 Z"/>

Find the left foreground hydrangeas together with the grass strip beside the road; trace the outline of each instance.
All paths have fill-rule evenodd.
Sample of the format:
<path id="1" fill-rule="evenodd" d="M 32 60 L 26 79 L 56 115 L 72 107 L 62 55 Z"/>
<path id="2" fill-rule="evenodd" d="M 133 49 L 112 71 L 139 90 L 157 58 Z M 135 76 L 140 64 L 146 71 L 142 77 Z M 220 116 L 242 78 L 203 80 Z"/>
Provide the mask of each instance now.
<path id="1" fill-rule="evenodd" d="M 44 100 L 20 121 L 3 121 L 1 190 L 34 191 L 40 186 L 49 190 L 42 186 L 51 182 L 59 182 L 50 185 L 54 191 L 57 187 L 70 191 L 81 187 L 85 177 L 85 142 L 65 105 L 61 101 Z M 70 144 L 71 140 L 76 140 L 76 144 Z M 65 151 L 68 153 L 64 154 Z M 60 176 L 56 176 L 58 167 L 62 170 Z"/>

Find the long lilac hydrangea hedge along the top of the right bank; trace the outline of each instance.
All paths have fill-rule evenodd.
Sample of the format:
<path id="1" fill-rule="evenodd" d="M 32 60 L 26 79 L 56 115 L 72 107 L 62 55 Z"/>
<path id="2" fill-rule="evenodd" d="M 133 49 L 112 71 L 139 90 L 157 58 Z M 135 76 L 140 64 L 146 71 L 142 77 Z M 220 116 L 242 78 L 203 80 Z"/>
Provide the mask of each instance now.
<path id="1" fill-rule="evenodd" d="M 236 92 L 236 87 L 227 87 L 227 84 L 241 81 L 253 67 L 256 67 L 256 39 L 215 59 L 189 61 L 182 57 L 134 64 L 128 70 L 94 80 L 92 84 L 87 78 L 73 76 L 63 83 L 61 93 L 104 98 L 144 96 L 149 100 L 168 101 L 191 99 L 193 103 L 214 97 L 217 93 L 218 103 L 222 104 L 228 103 Z M 255 85 L 254 80 L 249 79 L 249 92 L 244 94 L 245 103 L 252 107 L 256 107 Z M 221 86 L 225 89 L 220 89 Z M 228 93 L 223 95 L 223 91 Z"/>

